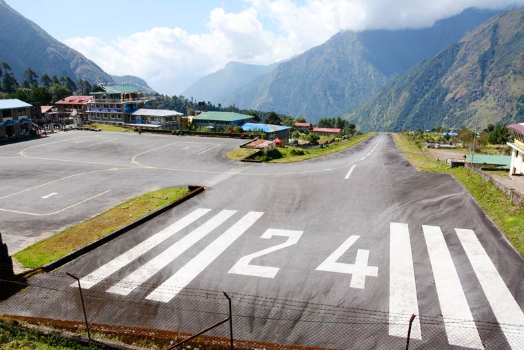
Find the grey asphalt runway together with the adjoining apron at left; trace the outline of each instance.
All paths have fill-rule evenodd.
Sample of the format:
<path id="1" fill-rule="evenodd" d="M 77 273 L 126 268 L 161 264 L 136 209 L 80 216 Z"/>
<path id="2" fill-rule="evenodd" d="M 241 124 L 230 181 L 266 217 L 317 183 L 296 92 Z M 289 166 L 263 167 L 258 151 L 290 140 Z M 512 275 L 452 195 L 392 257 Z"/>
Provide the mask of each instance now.
<path id="1" fill-rule="evenodd" d="M 62 139 L 82 140 L 73 136 Z M 224 159 L 239 140 L 181 137 L 196 143 L 189 146 L 196 155 L 186 157 L 185 144 L 168 146 L 178 141 L 172 137 L 148 136 L 151 144 L 122 137 L 137 144 L 121 140 L 119 154 L 100 158 L 81 146 L 60 155 L 48 150 L 61 144 L 22 156 L 61 159 L 48 162 L 67 164 L 71 173 L 100 167 L 85 184 L 92 189 L 91 176 L 99 177 L 96 191 L 69 190 L 83 197 L 111 189 L 115 198 L 115 188 L 123 195 L 132 184 L 143 189 L 152 174 L 170 179 L 169 186 L 207 183 L 208 190 L 58 271 L 34 276 L 35 287 L 0 304 L 1 313 L 82 320 L 68 272 L 81 278 L 92 322 L 196 332 L 227 313 L 226 291 L 239 339 L 401 348 L 414 313 L 410 349 L 524 348 L 523 259 L 461 184 L 416 171 L 390 135 L 294 164 Z M 220 146 L 211 148 L 214 142 Z M 71 162 L 79 155 L 89 163 Z M 114 175 L 105 173 L 111 166 L 125 168 L 125 182 L 105 179 Z M 84 203 L 94 210 L 103 197 Z M 7 214 L 0 213 L 2 222 Z M 227 336 L 223 329 L 212 334 Z"/>

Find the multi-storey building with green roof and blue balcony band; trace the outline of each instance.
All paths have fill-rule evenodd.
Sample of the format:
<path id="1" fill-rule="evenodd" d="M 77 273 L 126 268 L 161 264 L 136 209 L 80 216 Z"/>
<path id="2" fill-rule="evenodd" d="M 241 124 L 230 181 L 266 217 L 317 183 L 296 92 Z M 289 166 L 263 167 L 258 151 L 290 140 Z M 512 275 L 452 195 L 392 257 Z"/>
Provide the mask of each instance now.
<path id="1" fill-rule="evenodd" d="M 146 95 L 133 85 L 99 84 L 88 103 L 89 121 L 102 124 L 133 124 L 133 112 L 140 108 L 154 108 L 154 97 Z"/>

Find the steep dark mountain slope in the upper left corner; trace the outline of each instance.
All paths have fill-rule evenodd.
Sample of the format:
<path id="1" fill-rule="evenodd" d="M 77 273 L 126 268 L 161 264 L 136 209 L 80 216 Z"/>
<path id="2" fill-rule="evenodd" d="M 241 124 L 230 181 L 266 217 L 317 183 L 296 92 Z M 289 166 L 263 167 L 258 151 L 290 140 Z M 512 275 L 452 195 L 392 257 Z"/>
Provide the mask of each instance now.
<path id="1" fill-rule="evenodd" d="M 51 37 L 3 0 L 0 0 L 0 62 L 7 62 L 19 80 L 23 71 L 31 68 L 39 76 L 80 78 L 90 83 L 113 82 L 93 61 Z"/>

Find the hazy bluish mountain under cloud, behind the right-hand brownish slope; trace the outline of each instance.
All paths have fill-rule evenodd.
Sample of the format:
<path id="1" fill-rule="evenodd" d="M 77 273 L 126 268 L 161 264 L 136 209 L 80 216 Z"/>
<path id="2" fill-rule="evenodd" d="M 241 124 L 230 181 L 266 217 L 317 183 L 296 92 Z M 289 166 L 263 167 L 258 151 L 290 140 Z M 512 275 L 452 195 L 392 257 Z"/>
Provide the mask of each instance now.
<path id="1" fill-rule="evenodd" d="M 431 28 L 339 32 L 239 88 L 226 102 L 300 115 L 310 121 L 336 117 L 372 96 L 392 77 L 456 43 L 494 14 L 469 9 Z"/>

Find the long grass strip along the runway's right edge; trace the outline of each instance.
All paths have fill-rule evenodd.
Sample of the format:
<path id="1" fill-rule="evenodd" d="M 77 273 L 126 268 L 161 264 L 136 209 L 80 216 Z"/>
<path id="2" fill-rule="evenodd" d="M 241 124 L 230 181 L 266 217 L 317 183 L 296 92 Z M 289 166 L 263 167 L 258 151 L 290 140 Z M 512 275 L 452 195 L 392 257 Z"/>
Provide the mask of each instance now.
<path id="1" fill-rule="evenodd" d="M 463 167 L 450 169 L 445 162 L 423 153 L 406 135 L 393 134 L 393 137 L 405 157 L 417 170 L 452 174 L 524 257 L 524 208 L 511 202 L 494 184 L 485 181 L 473 171 Z"/>

